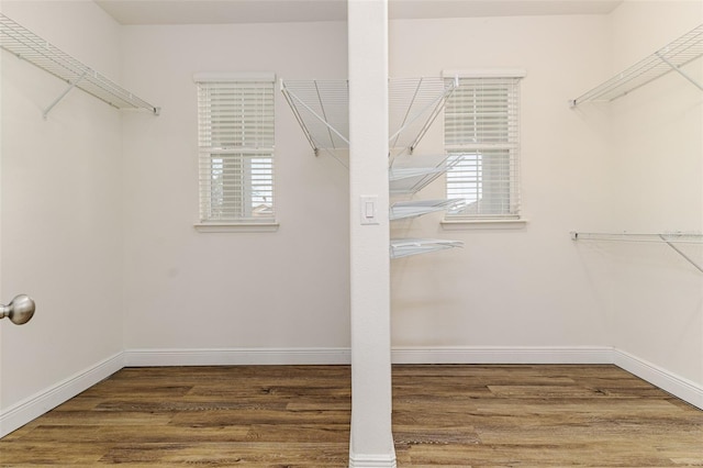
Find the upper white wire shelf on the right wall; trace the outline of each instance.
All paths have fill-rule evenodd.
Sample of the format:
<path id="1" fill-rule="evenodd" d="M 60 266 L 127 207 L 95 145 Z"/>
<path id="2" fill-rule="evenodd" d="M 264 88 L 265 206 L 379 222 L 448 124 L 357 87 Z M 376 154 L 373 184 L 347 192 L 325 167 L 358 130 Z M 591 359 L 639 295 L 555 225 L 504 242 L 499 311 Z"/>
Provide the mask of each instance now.
<path id="1" fill-rule="evenodd" d="M 703 55 L 703 24 L 682 35 L 665 47 L 636 63 L 626 70 L 604 81 L 588 92 L 570 101 L 577 107 L 589 101 L 613 101 L 628 92 L 647 85 L 657 78 L 676 71 L 699 89 L 703 85 L 693 79 L 681 67 Z"/>

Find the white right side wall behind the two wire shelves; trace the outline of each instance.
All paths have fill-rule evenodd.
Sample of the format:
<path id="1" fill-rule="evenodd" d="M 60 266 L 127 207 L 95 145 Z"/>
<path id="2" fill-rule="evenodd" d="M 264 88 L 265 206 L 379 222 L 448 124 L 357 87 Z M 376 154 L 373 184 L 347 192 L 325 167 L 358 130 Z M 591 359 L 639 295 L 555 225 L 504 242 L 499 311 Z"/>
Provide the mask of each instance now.
<path id="1" fill-rule="evenodd" d="M 625 2 L 613 14 L 613 69 L 645 58 L 702 19 L 698 1 Z M 684 70 L 703 82 L 700 60 Z M 701 90 L 672 73 L 613 102 L 611 111 L 615 227 L 702 232 Z M 700 245 L 680 247 L 703 266 Z M 617 245 L 607 255 L 616 285 L 613 344 L 703 383 L 703 274 L 666 245 Z"/>

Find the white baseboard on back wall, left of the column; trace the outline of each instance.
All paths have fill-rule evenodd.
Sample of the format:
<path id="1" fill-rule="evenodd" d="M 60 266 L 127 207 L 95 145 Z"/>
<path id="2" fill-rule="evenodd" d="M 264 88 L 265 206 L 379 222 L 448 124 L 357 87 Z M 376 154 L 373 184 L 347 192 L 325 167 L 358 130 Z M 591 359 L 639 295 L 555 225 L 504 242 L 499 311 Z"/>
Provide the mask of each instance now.
<path id="1" fill-rule="evenodd" d="M 126 367 L 349 364 L 349 348 L 127 349 Z"/>

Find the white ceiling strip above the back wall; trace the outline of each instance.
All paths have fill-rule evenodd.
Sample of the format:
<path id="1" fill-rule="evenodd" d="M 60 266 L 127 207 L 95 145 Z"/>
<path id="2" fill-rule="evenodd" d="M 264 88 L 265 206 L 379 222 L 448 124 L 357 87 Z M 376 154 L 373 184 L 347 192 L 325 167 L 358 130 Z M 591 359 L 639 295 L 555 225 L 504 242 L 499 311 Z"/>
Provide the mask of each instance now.
<path id="1" fill-rule="evenodd" d="M 345 21 L 346 0 L 96 0 L 121 24 Z M 389 0 L 391 19 L 606 14 L 622 0 Z"/>

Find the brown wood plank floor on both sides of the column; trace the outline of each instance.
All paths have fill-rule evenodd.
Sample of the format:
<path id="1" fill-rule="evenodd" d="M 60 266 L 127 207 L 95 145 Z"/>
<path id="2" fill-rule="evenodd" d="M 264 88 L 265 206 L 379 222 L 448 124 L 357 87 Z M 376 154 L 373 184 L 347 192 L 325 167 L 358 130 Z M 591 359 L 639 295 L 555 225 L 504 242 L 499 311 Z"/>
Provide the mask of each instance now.
<path id="1" fill-rule="evenodd" d="M 125 368 L 2 467 L 346 467 L 347 366 Z M 703 411 L 614 366 L 395 366 L 399 467 L 703 466 Z"/>

